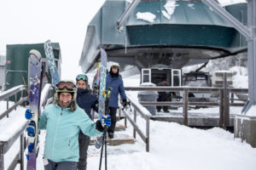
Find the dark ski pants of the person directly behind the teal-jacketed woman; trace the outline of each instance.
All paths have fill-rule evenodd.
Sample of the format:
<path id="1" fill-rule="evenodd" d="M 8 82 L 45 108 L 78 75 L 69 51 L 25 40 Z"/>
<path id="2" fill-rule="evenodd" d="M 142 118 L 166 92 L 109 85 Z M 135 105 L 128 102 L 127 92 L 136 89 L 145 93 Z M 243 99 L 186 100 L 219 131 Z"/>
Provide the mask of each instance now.
<path id="1" fill-rule="evenodd" d="M 87 150 L 90 144 L 90 137 L 79 133 L 79 164 L 78 170 L 86 170 L 87 167 Z"/>

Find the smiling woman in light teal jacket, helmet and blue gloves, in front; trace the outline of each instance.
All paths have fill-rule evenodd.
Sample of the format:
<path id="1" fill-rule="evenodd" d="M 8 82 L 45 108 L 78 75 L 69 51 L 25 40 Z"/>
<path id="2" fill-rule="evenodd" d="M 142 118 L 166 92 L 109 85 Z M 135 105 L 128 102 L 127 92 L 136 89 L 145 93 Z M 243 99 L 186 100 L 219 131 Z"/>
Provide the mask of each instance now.
<path id="1" fill-rule="evenodd" d="M 46 129 L 44 146 L 45 170 L 76 170 L 79 161 L 79 132 L 90 136 L 102 135 L 103 127 L 109 127 L 109 117 L 102 117 L 96 123 L 79 108 L 75 102 L 75 85 L 71 81 L 57 84 L 58 99 L 44 109 L 38 128 Z M 26 111 L 26 118 L 32 118 L 32 111 Z"/>

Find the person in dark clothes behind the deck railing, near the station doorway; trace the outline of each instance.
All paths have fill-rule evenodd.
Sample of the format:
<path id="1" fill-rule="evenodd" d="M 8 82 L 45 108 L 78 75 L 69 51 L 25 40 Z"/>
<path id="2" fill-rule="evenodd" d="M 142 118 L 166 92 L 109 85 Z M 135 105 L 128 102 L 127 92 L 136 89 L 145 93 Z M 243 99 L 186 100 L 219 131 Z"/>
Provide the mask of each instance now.
<path id="1" fill-rule="evenodd" d="M 166 79 L 163 79 L 161 82 L 157 84 L 158 86 L 167 86 Z M 169 92 L 158 92 L 159 97 L 157 101 L 169 101 L 170 100 L 170 93 Z M 157 105 L 156 109 L 157 111 L 161 111 L 161 108 L 163 108 L 164 112 L 168 113 L 168 106 L 167 105 Z"/>

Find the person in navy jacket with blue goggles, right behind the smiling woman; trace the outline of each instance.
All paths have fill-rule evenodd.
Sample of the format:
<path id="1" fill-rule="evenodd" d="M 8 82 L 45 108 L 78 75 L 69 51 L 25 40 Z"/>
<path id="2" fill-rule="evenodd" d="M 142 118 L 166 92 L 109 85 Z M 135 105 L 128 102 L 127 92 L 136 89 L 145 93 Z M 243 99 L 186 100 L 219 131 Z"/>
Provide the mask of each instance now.
<path id="1" fill-rule="evenodd" d="M 90 115 L 91 109 L 97 111 L 98 99 L 95 95 L 90 94 L 88 88 L 88 77 L 84 74 L 80 74 L 76 77 L 77 81 L 77 104 L 82 108 L 86 114 L 93 120 Z M 84 133 L 79 133 L 79 164 L 78 170 L 86 170 L 87 166 L 87 150 L 90 144 L 90 137 L 84 135 Z"/>

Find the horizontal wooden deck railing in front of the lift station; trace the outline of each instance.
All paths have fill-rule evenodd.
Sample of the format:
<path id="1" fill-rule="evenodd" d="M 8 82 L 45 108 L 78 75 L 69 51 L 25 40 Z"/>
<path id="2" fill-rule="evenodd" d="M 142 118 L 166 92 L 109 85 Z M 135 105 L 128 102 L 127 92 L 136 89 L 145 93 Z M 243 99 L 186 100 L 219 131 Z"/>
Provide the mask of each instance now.
<path id="1" fill-rule="evenodd" d="M 244 103 L 230 102 L 231 94 L 247 94 L 247 88 L 191 88 L 191 87 L 126 87 L 126 91 L 157 91 L 157 92 L 183 92 L 183 100 L 180 102 L 143 102 L 142 105 L 177 105 L 183 106 L 183 124 L 188 126 L 189 105 L 219 106 L 219 127 L 230 125 L 230 106 L 243 106 Z M 218 93 L 218 102 L 189 102 L 189 92 L 194 93 Z"/>

